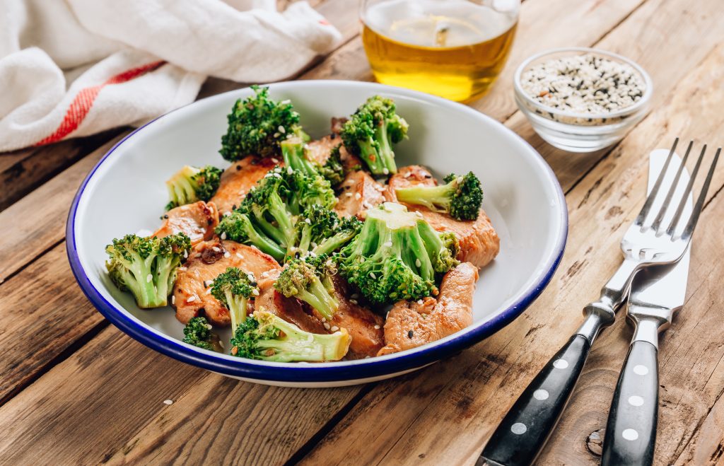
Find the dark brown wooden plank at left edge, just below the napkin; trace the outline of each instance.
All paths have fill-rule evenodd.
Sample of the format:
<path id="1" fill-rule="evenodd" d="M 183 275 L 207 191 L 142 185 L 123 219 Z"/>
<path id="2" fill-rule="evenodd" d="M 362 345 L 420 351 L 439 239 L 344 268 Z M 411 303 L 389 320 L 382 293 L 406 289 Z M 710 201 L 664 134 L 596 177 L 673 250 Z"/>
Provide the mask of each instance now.
<path id="1" fill-rule="evenodd" d="M 3 187 L 0 190 L 0 211 L 122 130 L 114 128 L 39 148 L 0 153 L 0 186 Z"/>

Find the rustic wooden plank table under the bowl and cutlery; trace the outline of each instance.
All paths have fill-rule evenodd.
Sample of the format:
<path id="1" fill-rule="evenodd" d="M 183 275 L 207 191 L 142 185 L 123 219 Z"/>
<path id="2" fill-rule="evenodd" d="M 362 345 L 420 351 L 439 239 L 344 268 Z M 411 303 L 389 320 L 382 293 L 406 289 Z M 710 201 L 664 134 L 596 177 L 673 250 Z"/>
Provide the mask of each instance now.
<path id="1" fill-rule="evenodd" d="M 371 80 L 357 0 L 313 3 L 345 41 L 298 79 Z M 649 151 L 676 135 L 724 143 L 722 17 L 720 0 L 523 3 L 505 72 L 472 106 L 518 132 L 557 174 L 571 219 L 563 262 L 507 328 L 450 360 L 376 384 L 247 384 L 125 336 L 75 284 L 64 224 L 85 174 L 129 130 L 0 154 L 0 462 L 472 464 L 618 266 L 618 241 L 643 203 Z M 555 46 L 605 48 L 652 75 L 652 111 L 618 145 L 588 155 L 558 151 L 516 110 L 513 69 Z M 210 80 L 200 97 L 241 86 Z M 718 170 L 695 235 L 686 305 L 660 346 L 659 465 L 724 462 L 723 187 Z M 620 316 L 602 334 L 539 464 L 597 464 L 630 338 Z"/>

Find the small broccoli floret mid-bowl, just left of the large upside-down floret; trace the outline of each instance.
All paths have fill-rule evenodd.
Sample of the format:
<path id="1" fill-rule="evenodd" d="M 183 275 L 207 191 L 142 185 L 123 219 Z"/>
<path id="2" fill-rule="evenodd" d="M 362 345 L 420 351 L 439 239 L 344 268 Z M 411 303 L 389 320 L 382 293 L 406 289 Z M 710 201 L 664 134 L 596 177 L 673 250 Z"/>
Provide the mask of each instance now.
<path id="1" fill-rule="evenodd" d="M 297 219 L 296 239 L 288 255 L 333 253 L 347 244 L 362 228 L 355 217 L 340 219 L 336 212 L 321 206 L 308 207 Z"/>

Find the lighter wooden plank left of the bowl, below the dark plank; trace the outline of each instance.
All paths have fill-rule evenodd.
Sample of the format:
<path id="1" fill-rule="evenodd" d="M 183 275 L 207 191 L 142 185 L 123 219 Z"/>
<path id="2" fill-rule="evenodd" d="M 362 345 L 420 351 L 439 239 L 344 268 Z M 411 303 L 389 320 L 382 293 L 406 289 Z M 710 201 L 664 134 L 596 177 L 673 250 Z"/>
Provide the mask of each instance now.
<path id="1" fill-rule="evenodd" d="M 0 242 L 0 283 L 62 241 L 68 208 L 80 183 L 123 135 L 125 132 L 0 212 L 0 237 L 3 238 Z"/>

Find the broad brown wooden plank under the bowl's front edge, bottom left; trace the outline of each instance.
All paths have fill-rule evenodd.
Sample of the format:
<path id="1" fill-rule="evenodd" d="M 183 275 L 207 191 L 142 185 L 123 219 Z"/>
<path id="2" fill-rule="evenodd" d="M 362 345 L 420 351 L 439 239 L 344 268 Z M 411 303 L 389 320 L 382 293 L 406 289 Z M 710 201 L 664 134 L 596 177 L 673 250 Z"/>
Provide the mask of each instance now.
<path id="1" fill-rule="evenodd" d="M 109 327 L 0 408 L 0 457 L 13 465 L 281 465 L 358 390 L 236 381 Z"/>

